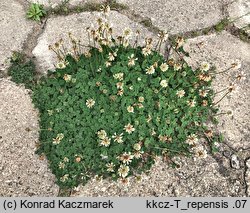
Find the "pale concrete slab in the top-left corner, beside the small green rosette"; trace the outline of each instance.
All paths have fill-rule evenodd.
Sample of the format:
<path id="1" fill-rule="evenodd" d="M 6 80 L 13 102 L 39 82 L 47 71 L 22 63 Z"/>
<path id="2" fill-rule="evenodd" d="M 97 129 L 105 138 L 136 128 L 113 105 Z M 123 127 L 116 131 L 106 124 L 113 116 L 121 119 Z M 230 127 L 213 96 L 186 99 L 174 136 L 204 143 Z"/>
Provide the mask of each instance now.
<path id="1" fill-rule="evenodd" d="M 20 51 L 32 32 L 34 23 L 25 18 L 25 10 L 17 1 L 0 1 L 0 72 L 7 66 L 12 51 Z"/>

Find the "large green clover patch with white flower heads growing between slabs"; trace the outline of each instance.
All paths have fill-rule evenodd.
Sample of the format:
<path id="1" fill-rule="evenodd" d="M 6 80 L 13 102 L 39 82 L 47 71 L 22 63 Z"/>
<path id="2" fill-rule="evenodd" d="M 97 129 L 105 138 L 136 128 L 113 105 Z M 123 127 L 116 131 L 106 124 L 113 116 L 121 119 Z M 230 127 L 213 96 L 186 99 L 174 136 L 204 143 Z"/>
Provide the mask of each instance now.
<path id="1" fill-rule="evenodd" d="M 109 10 L 102 8 L 97 29 L 87 28 L 87 51 L 71 34 L 71 52 L 62 39 L 49 47 L 59 63 L 33 93 L 40 110 L 38 153 L 46 155 L 61 187 L 95 175 L 128 183 L 158 156 L 205 158 L 222 139 L 206 125 L 218 110 L 210 65 L 188 66 L 181 37 L 170 42 L 160 32 L 156 46 L 151 38 L 138 46 L 138 31 L 131 44 L 130 29 L 115 37 Z M 159 53 L 166 42 L 179 58 Z"/>

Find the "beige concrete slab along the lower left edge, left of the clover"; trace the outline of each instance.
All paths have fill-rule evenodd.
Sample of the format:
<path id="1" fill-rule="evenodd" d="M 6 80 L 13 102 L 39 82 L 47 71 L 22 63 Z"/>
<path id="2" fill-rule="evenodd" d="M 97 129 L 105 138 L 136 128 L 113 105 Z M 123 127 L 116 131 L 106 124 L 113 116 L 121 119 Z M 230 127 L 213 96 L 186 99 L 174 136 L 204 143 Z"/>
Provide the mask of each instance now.
<path id="1" fill-rule="evenodd" d="M 48 163 L 35 154 L 38 113 L 29 91 L 0 79 L 0 196 L 57 196 Z"/>

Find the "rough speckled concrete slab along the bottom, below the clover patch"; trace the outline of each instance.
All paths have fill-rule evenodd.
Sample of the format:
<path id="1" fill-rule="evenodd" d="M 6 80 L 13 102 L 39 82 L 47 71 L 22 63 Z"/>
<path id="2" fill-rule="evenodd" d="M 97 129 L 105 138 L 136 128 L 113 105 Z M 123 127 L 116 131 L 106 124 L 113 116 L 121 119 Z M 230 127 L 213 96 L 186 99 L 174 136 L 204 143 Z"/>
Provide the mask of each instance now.
<path id="1" fill-rule="evenodd" d="M 175 160 L 180 168 L 173 169 L 168 163 L 157 160 L 149 175 L 142 175 L 141 181 L 135 178 L 128 186 L 119 182 L 96 179 L 74 191 L 72 196 L 243 196 L 244 184 L 240 177 L 233 179 L 221 173 L 217 162 L 208 156 L 206 159 L 179 158 Z M 228 164 L 227 164 L 228 165 Z"/>

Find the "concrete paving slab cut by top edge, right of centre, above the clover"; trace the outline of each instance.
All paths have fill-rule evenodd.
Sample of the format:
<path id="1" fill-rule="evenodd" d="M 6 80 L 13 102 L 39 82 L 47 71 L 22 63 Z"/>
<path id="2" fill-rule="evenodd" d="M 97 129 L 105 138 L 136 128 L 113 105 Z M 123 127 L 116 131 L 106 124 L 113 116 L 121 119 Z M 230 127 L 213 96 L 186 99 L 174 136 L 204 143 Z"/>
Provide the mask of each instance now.
<path id="1" fill-rule="evenodd" d="M 184 33 L 210 27 L 222 16 L 222 1 L 218 0 L 117 0 L 135 14 L 150 18 L 153 25 L 170 33 Z"/>

